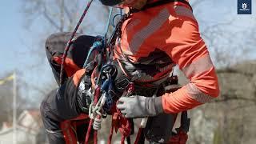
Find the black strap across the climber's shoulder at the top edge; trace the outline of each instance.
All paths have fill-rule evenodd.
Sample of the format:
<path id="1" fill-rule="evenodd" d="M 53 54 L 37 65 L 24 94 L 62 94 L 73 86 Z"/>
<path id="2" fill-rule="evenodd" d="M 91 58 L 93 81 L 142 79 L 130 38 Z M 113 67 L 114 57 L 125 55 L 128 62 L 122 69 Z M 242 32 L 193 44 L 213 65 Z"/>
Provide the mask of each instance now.
<path id="1" fill-rule="evenodd" d="M 190 3 L 186 2 L 186 0 L 159 0 L 158 2 L 153 2 L 153 3 L 146 4 L 146 6 L 144 6 L 142 8 L 142 10 L 146 10 L 146 9 L 149 9 L 149 8 L 152 8 L 152 7 L 155 7 L 155 6 L 165 5 L 165 4 L 170 3 L 170 2 L 182 2 L 182 3 L 186 4 L 187 6 L 190 6 Z M 190 6 L 190 9 L 193 11 L 192 6 Z M 138 13 L 139 11 L 142 11 L 142 10 L 130 9 L 130 14 Z"/>

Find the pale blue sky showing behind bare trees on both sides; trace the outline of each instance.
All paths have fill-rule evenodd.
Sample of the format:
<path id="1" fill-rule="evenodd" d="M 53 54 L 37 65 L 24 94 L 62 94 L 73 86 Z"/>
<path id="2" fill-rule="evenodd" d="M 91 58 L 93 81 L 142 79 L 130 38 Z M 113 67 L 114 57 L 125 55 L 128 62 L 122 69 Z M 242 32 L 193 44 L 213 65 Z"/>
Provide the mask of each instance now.
<path id="1" fill-rule="evenodd" d="M 45 26 L 45 21 L 38 19 L 30 30 L 26 29 L 24 14 L 21 12 L 21 2 L 21 0 L 8 0 L 2 1 L 0 5 L 0 78 L 3 78 L 13 70 L 19 70 L 23 74 L 22 81 L 34 85 L 52 82 L 53 77 L 50 74 L 50 66 L 47 65 L 46 59 L 42 61 L 42 66 L 39 68 L 41 73 L 38 74 L 38 69 L 33 64 L 37 64 L 39 58 L 36 54 L 31 55 L 30 49 L 28 49 L 30 46 L 38 46 L 38 39 L 42 39 L 42 31 L 44 31 L 42 28 Z M 227 19 L 234 18 L 234 25 L 227 26 L 225 29 L 248 30 L 256 25 L 254 9 L 256 10 L 256 2 L 253 2 L 253 14 L 238 15 L 237 0 L 207 0 L 197 6 L 197 10 L 194 11 L 200 28 L 216 22 L 226 22 Z M 95 17 L 88 16 L 87 21 L 90 20 L 95 21 Z M 95 27 L 100 31 L 104 25 L 96 25 Z M 242 40 L 242 35 L 240 35 L 240 40 Z M 45 35 L 43 36 L 45 37 Z M 230 37 L 232 36 L 230 35 Z M 250 54 L 250 58 L 256 58 L 256 55 Z M 30 90 L 26 94 L 32 97 L 36 92 Z"/>

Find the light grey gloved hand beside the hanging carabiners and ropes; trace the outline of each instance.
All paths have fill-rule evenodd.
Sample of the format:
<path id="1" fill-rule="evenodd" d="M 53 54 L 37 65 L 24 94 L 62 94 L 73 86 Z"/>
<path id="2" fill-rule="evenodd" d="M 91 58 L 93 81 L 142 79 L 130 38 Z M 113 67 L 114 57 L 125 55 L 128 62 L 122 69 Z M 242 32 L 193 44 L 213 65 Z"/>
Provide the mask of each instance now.
<path id="1" fill-rule="evenodd" d="M 163 113 L 162 97 L 121 97 L 117 107 L 126 118 L 144 118 Z"/>

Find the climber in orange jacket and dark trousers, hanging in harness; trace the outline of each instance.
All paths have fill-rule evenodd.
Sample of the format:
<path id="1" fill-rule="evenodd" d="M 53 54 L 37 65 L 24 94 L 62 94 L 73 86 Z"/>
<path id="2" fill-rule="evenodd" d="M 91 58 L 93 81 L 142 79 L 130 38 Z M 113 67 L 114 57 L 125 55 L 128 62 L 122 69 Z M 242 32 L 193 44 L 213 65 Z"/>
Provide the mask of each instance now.
<path id="1" fill-rule="evenodd" d="M 218 78 L 214 65 L 188 2 L 102 0 L 102 3 L 130 8 L 130 15 L 122 23 L 114 47 L 114 61 L 122 71 L 115 85 L 122 85 L 122 78 L 127 78 L 138 87 L 133 96 L 118 100 L 117 107 L 126 118 L 171 119 L 173 114 L 190 110 L 218 96 Z M 93 39 L 88 36 L 88 41 L 84 41 L 86 47 L 92 45 Z M 54 49 L 49 50 L 46 42 L 46 53 L 51 56 L 48 57 L 50 65 L 58 79 L 62 54 Z M 80 54 L 86 55 L 86 52 Z M 75 54 L 73 58 L 85 61 L 84 57 Z M 90 89 L 91 73 L 82 69 L 82 62 L 76 63 L 69 57 L 65 62 L 66 81 L 58 90 L 52 91 L 41 105 L 42 119 L 50 143 L 65 143 L 62 131 L 58 131 L 61 130 L 60 123 L 86 113 L 82 108 L 88 107 L 91 101 L 90 97 L 79 92 L 82 86 Z M 190 82 L 173 93 L 165 93 L 162 83 L 170 76 L 176 64 Z M 158 94 L 152 97 L 156 90 Z M 157 124 L 158 127 L 171 129 L 166 127 L 164 121 Z M 156 135 L 146 135 L 146 138 L 150 142 L 168 141 L 161 132 Z M 163 141 L 162 137 L 165 137 Z"/>

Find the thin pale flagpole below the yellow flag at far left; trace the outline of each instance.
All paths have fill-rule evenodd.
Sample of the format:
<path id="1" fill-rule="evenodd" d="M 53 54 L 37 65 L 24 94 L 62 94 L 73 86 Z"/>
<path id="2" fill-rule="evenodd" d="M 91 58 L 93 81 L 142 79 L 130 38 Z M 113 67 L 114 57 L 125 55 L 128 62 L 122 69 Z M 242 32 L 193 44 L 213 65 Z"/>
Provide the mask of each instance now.
<path id="1" fill-rule="evenodd" d="M 13 79 L 13 144 L 17 143 L 17 106 L 16 106 L 16 98 L 17 98 L 17 82 L 16 82 L 16 71 L 14 71 L 14 79 Z"/>

